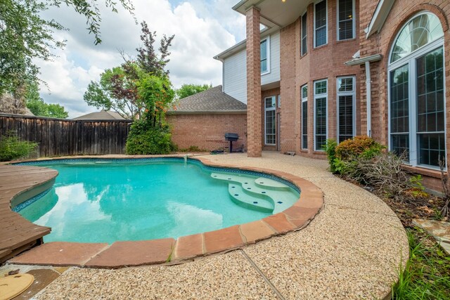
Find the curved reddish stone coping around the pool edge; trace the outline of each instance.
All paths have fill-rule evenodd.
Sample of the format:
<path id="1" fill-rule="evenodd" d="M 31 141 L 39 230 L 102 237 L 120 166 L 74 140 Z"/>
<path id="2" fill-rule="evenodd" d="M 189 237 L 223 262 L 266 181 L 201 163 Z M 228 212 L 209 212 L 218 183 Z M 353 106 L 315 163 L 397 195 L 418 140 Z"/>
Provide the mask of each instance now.
<path id="1" fill-rule="evenodd" d="M 178 155 L 178 157 L 183 156 Z M 174 156 L 171 155 L 170 157 Z M 109 158 L 123 158 L 123 156 L 109 156 Z M 124 241 L 114 242 L 110 245 L 105 243 L 49 242 L 34 247 L 8 262 L 88 268 L 122 268 L 126 266 L 182 263 L 195 257 L 228 252 L 231 249 L 255 244 L 276 235 L 300 230 L 307 226 L 323 208 L 322 191 L 310 181 L 300 177 L 270 169 L 217 164 L 204 157 L 191 158 L 198 159 L 211 167 L 243 169 L 278 176 L 300 188 L 300 198 L 292 207 L 264 219 L 206 233 L 179 237 L 176 240 L 165 238 Z"/>

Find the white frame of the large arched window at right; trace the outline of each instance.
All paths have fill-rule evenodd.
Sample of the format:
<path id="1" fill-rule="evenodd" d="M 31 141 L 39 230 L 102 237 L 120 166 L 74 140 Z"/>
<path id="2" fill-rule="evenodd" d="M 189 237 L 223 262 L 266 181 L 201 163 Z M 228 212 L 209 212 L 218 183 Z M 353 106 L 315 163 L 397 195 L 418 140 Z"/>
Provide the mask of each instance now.
<path id="1" fill-rule="evenodd" d="M 404 30 L 404 28 L 409 25 L 409 21 L 413 20 L 413 18 L 418 17 L 419 15 L 423 15 L 425 13 L 430 13 L 429 11 L 424 11 L 423 13 L 418 13 L 413 15 L 409 20 L 405 23 L 401 30 L 397 33 L 397 37 L 394 39 L 394 43 L 390 48 L 389 60 L 391 61 L 392 53 L 394 52 L 395 42 L 397 41 L 399 35 Z M 443 72 L 444 72 L 444 112 L 446 112 L 446 84 L 445 84 L 445 46 L 444 46 L 444 37 L 436 39 L 432 41 L 430 44 L 426 44 L 418 48 L 416 51 L 413 51 L 408 56 L 404 58 L 400 58 L 399 60 L 394 61 L 394 63 L 390 63 L 387 66 L 387 147 L 389 150 L 392 150 L 392 133 L 391 133 L 391 72 L 396 70 L 399 67 L 404 65 L 408 65 L 408 80 L 409 80 L 409 162 L 404 162 L 405 164 L 410 165 L 411 167 L 424 167 L 427 169 L 439 169 L 439 167 L 431 166 L 429 164 L 418 164 L 418 133 L 417 133 L 417 70 L 416 70 L 416 60 L 417 58 L 424 56 L 426 53 L 430 51 L 434 51 L 437 48 L 442 47 L 444 51 L 443 57 Z M 444 113 L 444 119 L 446 119 L 446 113 Z M 444 120 L 444 124 L 446 124 L 446 120 Z M 440 132 L 440 131 L 439 131 Z M 446 139 L 446 126 L 444 126 L 444 137 Z M 445 153 L 447 155 L 447 145 L 445 143 Z M 447 162 L 448 164 L 449 162 Z M 447 168 L 444 169 L 446 171 Z"/>

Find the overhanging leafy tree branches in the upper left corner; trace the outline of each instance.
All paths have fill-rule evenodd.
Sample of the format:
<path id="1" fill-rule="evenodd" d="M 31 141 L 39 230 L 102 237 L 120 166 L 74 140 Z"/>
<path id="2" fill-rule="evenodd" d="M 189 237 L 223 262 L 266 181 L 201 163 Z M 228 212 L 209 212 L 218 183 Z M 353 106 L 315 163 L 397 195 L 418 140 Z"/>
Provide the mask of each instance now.
<path id="1" fill-rule="evenodd" d="M 34 58 L 49 60 L 51 49 L 63 48 L 56 41 L 55 30 L 65 30 L 55 20 L 41 18 L 50 6 L 67 5 L 86 18 L 87 30 L 94 34 L 94 44 L 101 43 L 100 0 L 1 0 L 0 1 L 0 95 L 12 93 L 23 98 L 27 82 L 38 81 L 39 68 Z M 105 0 L 105 5 L 117 12 L 117 3 L 133 12 L 131 0 Z"/>

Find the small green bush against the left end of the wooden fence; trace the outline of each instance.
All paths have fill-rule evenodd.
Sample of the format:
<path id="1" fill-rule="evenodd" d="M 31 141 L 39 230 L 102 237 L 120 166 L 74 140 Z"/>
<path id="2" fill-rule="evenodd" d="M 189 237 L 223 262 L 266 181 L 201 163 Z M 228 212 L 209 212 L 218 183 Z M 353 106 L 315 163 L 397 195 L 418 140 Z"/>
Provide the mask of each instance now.
<path id="1" fill-rule="evenodd" d="M 20 141 L 15 132 L 8 131 L 0 140 L 0 162 L 28 157 L 36 148 L 37 143 Z"/>

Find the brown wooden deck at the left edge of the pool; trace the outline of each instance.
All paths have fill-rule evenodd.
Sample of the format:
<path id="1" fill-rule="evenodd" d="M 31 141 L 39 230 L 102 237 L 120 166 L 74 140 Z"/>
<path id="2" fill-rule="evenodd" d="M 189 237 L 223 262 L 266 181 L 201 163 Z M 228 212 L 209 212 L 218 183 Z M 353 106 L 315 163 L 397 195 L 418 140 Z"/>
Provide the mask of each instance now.
<path id="1" fill-rule="evenodd" d="M 11 211 L 11 200 L 22 202 L 38 195 L 53 185 L 57 175 L 58 171 L 43 167 L 0 165 L 0 263 L 41 244 L 50 233 L 51 228 Z"/>

